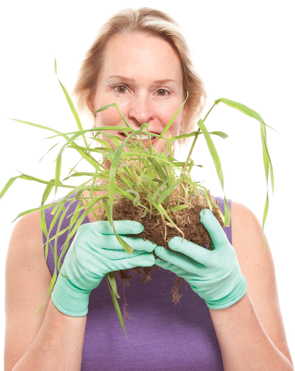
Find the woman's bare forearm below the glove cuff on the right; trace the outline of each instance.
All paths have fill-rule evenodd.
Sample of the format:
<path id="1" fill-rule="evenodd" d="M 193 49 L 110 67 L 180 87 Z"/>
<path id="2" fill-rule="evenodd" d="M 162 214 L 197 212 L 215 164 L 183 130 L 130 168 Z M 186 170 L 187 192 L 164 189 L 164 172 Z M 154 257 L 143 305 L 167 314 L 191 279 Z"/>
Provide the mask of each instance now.
<path id="1" fill-rule="evenodd" d="M 224 371 L 294 371 L 260 324 L 248 292 L 228 308 L 209 310 Z"/>

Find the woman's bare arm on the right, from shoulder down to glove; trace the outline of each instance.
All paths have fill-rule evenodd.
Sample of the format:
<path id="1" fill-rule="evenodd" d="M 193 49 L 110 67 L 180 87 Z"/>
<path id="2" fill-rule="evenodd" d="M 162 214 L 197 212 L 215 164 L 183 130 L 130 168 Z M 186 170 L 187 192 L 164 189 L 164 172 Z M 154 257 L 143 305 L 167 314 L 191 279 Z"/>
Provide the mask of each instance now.
<path id="1" fill-rule="evenodd" d="M 224 370 L 294 370 L 286 342 L 269 244 L 255 215 L 232 202 L 232 245 L 248 292 L 225 309 L 210 309 Z"/>

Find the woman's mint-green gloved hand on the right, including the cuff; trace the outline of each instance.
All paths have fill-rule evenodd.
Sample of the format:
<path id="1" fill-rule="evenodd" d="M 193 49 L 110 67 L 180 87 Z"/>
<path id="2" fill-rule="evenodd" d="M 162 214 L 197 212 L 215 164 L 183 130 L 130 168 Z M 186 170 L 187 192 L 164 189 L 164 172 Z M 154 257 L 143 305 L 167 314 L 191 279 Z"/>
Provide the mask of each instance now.
<path id="1" fill-rule="evenodd" d="M 227 308 L 247 291 L 235 249 L 229 243 L 218 220 L 209 209 L 201 210 L 200 221 L 212 239 L 214 250 L 207 250 L 182 237 L 173 237 L 168 246 L 155 248 L 155 264 L 184 278 L 210 309 Z"/>

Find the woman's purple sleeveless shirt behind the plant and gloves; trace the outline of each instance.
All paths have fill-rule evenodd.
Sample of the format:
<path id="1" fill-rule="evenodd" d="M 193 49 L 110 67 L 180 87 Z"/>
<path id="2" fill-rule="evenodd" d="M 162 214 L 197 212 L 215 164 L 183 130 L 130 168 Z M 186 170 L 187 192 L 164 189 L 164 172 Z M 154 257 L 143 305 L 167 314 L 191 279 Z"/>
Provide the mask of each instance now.
<path id="1" fill-rule="evenodd" d="M 70 198 L 74 198 L 73 194 Z M 224 200 L 215 197 L 224 214 Z M 227 200 L 229 207 L 231 200 Z M 73 213 L 78 200 L 67 211 Z M 65 203 L 65 208 L 70 201 Z M 53 207 L 52 207 L 53 208 Z M 53 215 L 52 208 L 45 209 L 47 231 Z M 80 212 L 79 217 L 83 214 Z M 63 219 L 60 230 L 69 225 L 71 217 Z M 58 221 L 50 237 L 57 230 Z M 86 216 L 82 224 L 89 223 Z M 224 232 L 232 243 L 231 224 Z M 58 254 L 66 240 L 64 233 L 58 238 Z M 70 244 L 73 240 L 72 237 Z M 43 241 L 46 237 L 43 234 Z M 70 246 L 69 244 L 69 246 Z M 50 248 L 49 248 L 50 249 Z M 63 258 L 62 258 L 63 262 Z M 47 266 L 51 275 L 54 271 L 52 252 L 48 252 Z M 135 273 L 130 286 L 125 287 L 127 312 L 132 319 L 125 320 L 127 340 L 115 311 L 111 294 L 103 278 L 92 290 L 89 298 L 85 338 L 82 354 L 82 371 L 222 371 L 222 357 L 214 326 L 205 301 L 193 292 L 185 281 L 178 289 L 180 302 L 174 305 L 172 288 L 176 275 L 168 270 L 151 270 L 152 280 L 138 282 Z M 116 279 L 118 303 L 123 314 L 123 283 Z"/>

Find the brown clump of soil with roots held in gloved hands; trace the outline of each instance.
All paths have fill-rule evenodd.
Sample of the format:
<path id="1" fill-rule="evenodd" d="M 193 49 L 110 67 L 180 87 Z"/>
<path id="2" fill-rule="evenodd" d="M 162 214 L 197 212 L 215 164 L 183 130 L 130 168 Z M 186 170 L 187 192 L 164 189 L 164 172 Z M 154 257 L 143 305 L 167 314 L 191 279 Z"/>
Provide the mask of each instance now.
<path id="1" fill-rule="evenodd" d="M 181 197 L 179 198 L 181 199 Z M 142 197 L 141 200 L 144 200 L 144 197 Z M 217 203 L 217 200 L 215 200 L 215 202 Z M 148 202 L 146 202 L 146 205 L 149 206 Z M 173 206 L 176 205 L 174 204 Z M 179 210 L 177 211 L 177 213 L 170 213 L 169 216 L 173 220 L 173 222 L 183 231 L 185 239 L 200 246 L 203 246 L 205 249 L 212 250 L 214 247 L 212 246 L 210 235 L 203 224 L 200 222 L 199 214 L 200 211 L 204 208 L 209 208 L 206 198 L 203 197 L 201 200 L 199 200 L 196 196 L 191 198 L 189 207 L 187 209 Z M 223 221 L 221 220 L 219 214 L 217 213 L 217 210 L 214 207 L 212 208 L 212 212 L 216 219 L 219 221 L 220 225 L 223 227 Z M 156 243 L 158 246 L 164 246 L 168 250 L 168 241 L 171 238 L 175 236 L 182 237 L 182 234 L 176 228 L 174 228 L 172 224 L 168 223 L 166 224 L 167 237 L 166 241 L 164 241 L 164 220 L 158 213 L 158 211 L 156 209 L 152 210 L 151 218 L 149 212 L 144 217 L 142 217 L 143 214 L 144 209 L 141 206 L 134 206 L 132 201 L 128 200 L 128 198 L 120 198 L 114 201 L 113 220 L 135 220 L 139 221 L 144 226 L 143 232 L 137 234 L 136 236 L 142 237 L 144 240 L 150 240 Z M 101 219 L 106 219 L 105 212 L 101 214 Z M 169 224 L 171 226 L 169 226 Z M 130 234 L 127 236 L 134 235 Z M 156 259 L 162 260 L 160 257 L 155 255 L 154 251 L 152 253 Z M 152 267 L 135 267 L 132 269 L 118 270 L 115 272 L 115 275 L 124 283 L 125 288 L 125 284 L 127 284 L 127 286 L 130 285 L 130 280 L 133 278 L 135 272 L 138 273 L 138 281 L 150 281 L 152 268 L 161 269 L 157 265 L 153 265 Z M 172 288 L 172 300 L 175 304 L 179 302 L 181 297 L 178 293 L 178 288 L 182 280 L 183 278 L 176 275 L 176 281 L 174 287 Z M 128 313 L 125 313 L 124 308 L 124 321 L 127 314 Z"/>

